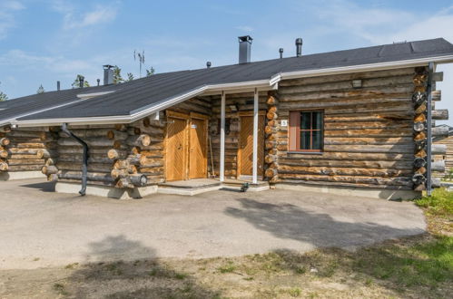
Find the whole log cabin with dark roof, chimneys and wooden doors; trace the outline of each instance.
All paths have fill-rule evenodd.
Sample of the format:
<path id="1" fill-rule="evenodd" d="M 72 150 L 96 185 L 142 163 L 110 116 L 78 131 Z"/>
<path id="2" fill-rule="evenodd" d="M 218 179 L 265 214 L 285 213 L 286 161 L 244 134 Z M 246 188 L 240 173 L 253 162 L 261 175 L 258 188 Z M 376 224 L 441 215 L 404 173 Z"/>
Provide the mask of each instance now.
<path id="1" fill-rule="evenodd" d="M 191 182 L 387 199 L 439 185 L 436 66 L 453 62 L 453 44 L 302 55 L 299 38 L 295 56 L 251 62 L 251 42 L 239 38 L 236 64 L 118 84 L 104 65 L 102 86 L 0 103 L 0 176 L 112 198 Z"/>

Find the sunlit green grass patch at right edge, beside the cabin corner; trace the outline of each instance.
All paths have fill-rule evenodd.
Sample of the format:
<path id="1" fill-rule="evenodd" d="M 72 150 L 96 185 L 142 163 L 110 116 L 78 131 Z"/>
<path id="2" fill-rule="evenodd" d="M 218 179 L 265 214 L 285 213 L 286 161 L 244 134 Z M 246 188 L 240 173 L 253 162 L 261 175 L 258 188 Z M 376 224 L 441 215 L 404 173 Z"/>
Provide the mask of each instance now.
<path id="1" fill-rule="evenodd" d="M 448 192 L 445 188 L 438 188 L 430 197 L 416 199 L 415 204 L 427 208 L 429 214 L 451 216 L 453 215 L 453 192 Z"/>

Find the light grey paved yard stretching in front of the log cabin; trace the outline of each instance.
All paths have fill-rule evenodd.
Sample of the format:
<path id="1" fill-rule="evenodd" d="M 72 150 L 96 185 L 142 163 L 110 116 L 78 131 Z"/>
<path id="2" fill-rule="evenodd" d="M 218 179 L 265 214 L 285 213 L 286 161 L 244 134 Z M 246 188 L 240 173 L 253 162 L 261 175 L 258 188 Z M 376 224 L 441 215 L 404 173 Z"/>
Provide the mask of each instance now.
<path id="1" fill-rule="evenodd" d="M 55 193 L 54 183 L 41 179 L 0 186 L 0 268 L 10 269 L 355 248 L 426 228 L 421 210 L 410 202 L 308 191 L 217 190 L 112 200 Z"/>

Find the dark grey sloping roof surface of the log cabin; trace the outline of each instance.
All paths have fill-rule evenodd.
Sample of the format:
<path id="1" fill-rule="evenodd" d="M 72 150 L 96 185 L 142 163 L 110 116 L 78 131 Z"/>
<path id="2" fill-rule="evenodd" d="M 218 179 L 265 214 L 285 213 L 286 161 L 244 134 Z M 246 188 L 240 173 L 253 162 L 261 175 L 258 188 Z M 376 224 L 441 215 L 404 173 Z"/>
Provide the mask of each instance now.
<path id="1" fill-rule="evenodd" d="M 208 84 L 251 82 L 270 80 L 280 72 L 297 72 L 355 66 L 369 63 L 389 63 L 418 58 L 431 58 L 453 54 L 453 44 L 443 38 L 409 43 L 393 43 L 366 48 L 316 53 L 274 59 L 256 63 L 233 64 L 182 72 L 158 73 L 151 77 L 122 84 L 84 89 L 83 92 L 115 90 L 116 92 L 77 101 L 49 111 L 36 113 L 18 120 L 43 120 L 60 118 L 124 116 L 134 111 L 167 101 L 179 94 L 191 92 Z M 77 90 L 45 92 L 13 101 L 28 102 L 32 107 L 25 109 L 23 104 L 12 105 L 0 111 L 0 121 L 19 116 L 20 111 L 41 110 L 64 101 L 75 100 Z M 61 95 L 61 96 L 60 96 Z M 30 106 L 30 105 L 26 105 Z M 2 107 L 0 107 L 2 108 Z M 11 110 L 11 111 L 10 111 Z M 9 117 L 4 116 L 4 113 Z"/>

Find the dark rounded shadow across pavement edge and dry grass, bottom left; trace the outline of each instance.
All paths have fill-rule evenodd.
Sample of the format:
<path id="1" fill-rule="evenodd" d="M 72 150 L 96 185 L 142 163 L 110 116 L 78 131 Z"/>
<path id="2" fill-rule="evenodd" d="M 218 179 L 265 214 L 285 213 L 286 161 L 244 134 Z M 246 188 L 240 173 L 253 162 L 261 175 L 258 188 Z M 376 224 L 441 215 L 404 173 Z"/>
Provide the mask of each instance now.
<path id="1" fill-rule="evenodd" d="M 126 262 L 112 261 L 112 256 L 135 255 L 143 252 L 150 259 Z M 174 271 L 162 261 L 153 259 L 153 248 L 125 236 L 109 236 L 90 244 L 87 265 L 67 265 L 76 270 L 54 290 L 71 298 L 214 298 L 218 294 L 198 285 L 195 279 Z M 105 262 L 110 260 L 111 262 Z"/>

